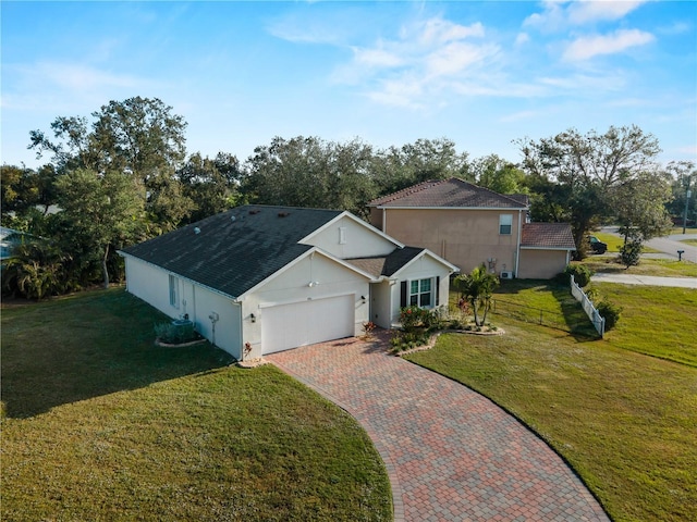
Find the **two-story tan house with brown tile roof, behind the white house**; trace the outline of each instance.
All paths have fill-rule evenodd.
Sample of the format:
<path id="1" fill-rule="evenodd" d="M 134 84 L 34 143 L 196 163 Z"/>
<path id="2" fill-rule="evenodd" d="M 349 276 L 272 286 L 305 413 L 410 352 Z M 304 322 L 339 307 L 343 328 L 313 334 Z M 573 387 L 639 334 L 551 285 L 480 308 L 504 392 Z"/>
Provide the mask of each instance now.
<path id="1" fill-rule="evenodd" d="M 549 278 L 575 250 L 566 223 L 527 223 L 527 196 L 502 195 L 452 177 L 424 182 L 369 203 L 374 226 L 460 266 L 485 263 L 502 278 Z"/>

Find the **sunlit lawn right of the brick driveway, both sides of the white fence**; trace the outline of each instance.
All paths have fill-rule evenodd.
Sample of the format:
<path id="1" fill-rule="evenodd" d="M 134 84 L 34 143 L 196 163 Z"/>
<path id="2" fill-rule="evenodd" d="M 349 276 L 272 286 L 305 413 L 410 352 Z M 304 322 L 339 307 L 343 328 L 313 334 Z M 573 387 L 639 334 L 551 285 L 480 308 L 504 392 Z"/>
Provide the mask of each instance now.
<path id="1" fill-rule="evenodd" d="M 505 335 L 442 335 L 433 349 L 407 359 L 523 420 L 572 464 L 613 520 L 690 520 L 697 506 L 697 369 L 629 351 L 636 349 L 629 339 L 644 337 L 647 351 L 655 345 L 660 357 L 694 362 L 688 336 L 697 291 L 686 290 L 688 302 L 669 313 L 665 302 L 685 296 L 647 299 L 614 286 L 601 290 L 621 300 L 625 312 L 607 340 L 494 315 Z M 557 300 L 539 285 L 512 296 L 529 296 L 537 306 Z"/>

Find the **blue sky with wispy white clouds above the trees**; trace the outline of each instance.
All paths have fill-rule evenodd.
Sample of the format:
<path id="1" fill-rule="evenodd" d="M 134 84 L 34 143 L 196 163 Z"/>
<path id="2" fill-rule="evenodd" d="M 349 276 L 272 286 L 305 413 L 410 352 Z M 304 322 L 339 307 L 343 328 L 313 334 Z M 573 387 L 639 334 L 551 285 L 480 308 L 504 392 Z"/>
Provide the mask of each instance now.
<path id="1" fill-rule="evenodd" d="M 1 2 L 1 162 L 32 129 L 159 98 L 188 152 L 246 160 L 274 136 L 378 148 L 636 124 L 697 159 L 697 2 Z M 47 159 L 48 160 L 48 159 Z"/>

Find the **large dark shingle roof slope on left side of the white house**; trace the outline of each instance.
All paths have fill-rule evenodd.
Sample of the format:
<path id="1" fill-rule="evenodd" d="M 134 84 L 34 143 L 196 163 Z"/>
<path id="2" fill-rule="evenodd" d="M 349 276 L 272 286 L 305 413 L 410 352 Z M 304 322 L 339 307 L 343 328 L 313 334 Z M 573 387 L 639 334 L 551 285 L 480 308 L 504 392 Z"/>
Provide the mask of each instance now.
<path id="1" fill-rule="evenodd" d="M 237 207 L 123 252 L 237 297 L 311 249 L 297 241 L 341 213 L 260 204 Z"/>

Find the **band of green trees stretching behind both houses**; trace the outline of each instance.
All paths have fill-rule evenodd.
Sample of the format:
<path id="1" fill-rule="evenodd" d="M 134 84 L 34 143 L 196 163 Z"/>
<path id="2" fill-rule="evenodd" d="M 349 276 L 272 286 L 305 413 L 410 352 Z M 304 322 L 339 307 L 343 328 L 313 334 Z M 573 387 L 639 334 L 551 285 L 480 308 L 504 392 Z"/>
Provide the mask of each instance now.
<path id="1" fill-rule="evenodd" d="M 186 122 L 159 99 L 111 101 L 29 133 L 39 169 L 1 166 L 2 225 L 26 233 L 3 268 L 3 291 L 41 298 L 123 277 L 117 251 L 237 204 L 348 210 L 452 176 L 528 194 L 533 221 L 571 222 L 577 252 L 606 221 L 626 244 L 662 233 L 685 202 L 689 162 L 657 164 L 658 140 L 636 126 L 521 139 L 523 160 L 469 159 L 447 138 L 378 149 L 360 139 L 277 137 L 244 162 L 186 153 Z M 681 199 L 682 198 L 682 199 Z M 694 208 L 694 204 L 693 204 Z"/>

